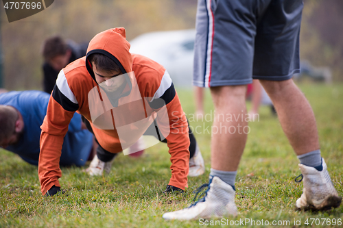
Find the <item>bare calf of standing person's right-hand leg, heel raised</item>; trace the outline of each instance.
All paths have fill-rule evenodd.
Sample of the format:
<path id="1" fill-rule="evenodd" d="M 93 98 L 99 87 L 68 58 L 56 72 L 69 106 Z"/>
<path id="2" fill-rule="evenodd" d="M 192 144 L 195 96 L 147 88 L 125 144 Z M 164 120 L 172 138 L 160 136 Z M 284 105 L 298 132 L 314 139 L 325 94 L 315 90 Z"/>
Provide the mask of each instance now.
<path id="1" fill-rule="evenodd" d="M 296 155 L 320 149 L 316 118 L 303 92 L 292 79 L 285 81 L 261 80 L 265 91 L 272 99 L 281 127 Z M 320 155 L 319 164 L 320 161 Z"/>

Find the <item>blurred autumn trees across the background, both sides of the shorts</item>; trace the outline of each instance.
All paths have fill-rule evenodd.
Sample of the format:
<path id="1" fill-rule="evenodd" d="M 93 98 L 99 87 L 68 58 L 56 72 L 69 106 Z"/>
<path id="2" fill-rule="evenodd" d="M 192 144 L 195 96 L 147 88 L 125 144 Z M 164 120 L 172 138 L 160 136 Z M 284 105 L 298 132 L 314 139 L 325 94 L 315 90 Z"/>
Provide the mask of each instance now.
<path id="1" fill-rule="evenodd" d="M 196 0 L 56 0 L 43 12 L 12 23 L 2 8 L 5 88 L 42 88 L 41 47 L 49 36 L 88 42 L 100 31 L 125 27 L 131 40 L 148 31 L 194 28 L 196 6 Z M 342 18 L 342 0 L 305 0 L 301 58 L 331 67 L 335 81 L 343 81 Z"/>

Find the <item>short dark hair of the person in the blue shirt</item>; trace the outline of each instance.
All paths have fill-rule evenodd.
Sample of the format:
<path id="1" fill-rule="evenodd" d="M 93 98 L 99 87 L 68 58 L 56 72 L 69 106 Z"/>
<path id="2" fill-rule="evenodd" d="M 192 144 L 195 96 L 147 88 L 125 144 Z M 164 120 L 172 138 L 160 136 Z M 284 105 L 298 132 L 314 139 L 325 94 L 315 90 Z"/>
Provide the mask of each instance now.
<path id="1" fill-rule="evenodd" d="M 14 133 L 17 119 L 18 113 L 13 107 L 0 105 L 0 142 Z"/>

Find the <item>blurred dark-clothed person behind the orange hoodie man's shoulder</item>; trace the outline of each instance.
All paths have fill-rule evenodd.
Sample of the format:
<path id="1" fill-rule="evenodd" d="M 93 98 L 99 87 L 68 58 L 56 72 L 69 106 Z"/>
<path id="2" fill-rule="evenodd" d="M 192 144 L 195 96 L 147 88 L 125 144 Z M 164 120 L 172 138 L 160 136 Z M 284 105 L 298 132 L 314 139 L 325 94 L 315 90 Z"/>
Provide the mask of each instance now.
<path id="1" fill-rule="evenodd" d="M 60 36 L 47 38 L 43 45 L 43 90 L 51 93 L 57 75 L 69 63 L 86 55 L 88 43 L 77 44 L 72 40 L 63 40 Z"/>

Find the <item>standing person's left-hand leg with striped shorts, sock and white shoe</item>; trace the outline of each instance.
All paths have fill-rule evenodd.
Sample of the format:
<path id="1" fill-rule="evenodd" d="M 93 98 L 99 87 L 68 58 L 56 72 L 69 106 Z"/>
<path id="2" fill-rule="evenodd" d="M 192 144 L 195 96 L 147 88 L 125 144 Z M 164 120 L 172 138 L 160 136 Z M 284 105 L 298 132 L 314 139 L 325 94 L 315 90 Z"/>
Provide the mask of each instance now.
<path id="1" fill-rule="evenodd" d="M 261 3 L 263 5 L 263 3 Z M 205 197 L 165 219 L 236 215 L 235 177 L 246 144 L 246 85 L 252 83 L 255 1 L 198 1 L 193 84 L 215 105 L 211 173 Z M 255 15 L 252 15 L 252 18 Z"/>

